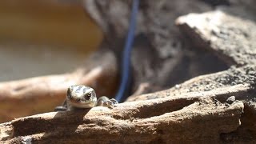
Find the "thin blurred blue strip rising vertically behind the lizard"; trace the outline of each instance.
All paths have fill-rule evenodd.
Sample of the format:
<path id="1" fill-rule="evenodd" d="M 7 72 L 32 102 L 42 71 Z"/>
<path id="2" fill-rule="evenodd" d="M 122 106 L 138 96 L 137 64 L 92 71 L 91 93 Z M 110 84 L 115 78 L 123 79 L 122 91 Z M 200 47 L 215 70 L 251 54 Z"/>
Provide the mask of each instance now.
<path id="1" fill-rule="evenodd" d="M 115 95 L 115 99 L 121 102 L 124 99 L 127 85 L 130 78 L 130 54 L 132 45 L 134 43 L 134 32 L 136 26 L 136 15 L 138 13 L 139 0 L 134 0 L 132 4 L 132 10 L 130 15 L 130 26 L 126 37 L 126 45 L 122 51 L 122 79 L 118 89 L 118 93 Z"/>

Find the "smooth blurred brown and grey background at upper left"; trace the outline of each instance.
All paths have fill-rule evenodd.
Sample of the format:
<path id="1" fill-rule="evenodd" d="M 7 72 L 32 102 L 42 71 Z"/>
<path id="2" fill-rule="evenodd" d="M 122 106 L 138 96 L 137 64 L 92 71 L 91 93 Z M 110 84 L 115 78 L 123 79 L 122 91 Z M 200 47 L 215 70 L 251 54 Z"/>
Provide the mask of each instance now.
<path id="1" fill-rule="evenodd" d="M 101 40 L 81 3 L 1 0 L 0 82 L 72 71 Z"/>

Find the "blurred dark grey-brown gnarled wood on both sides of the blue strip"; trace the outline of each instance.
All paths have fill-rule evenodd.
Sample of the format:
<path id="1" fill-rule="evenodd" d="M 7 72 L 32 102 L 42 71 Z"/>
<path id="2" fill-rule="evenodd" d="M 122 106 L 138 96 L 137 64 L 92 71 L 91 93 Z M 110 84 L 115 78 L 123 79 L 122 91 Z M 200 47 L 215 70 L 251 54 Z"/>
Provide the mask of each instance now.
<path id="1" fill-rule="evenodd" d="M 118 8 L 117 8 L 118 7 Z M 86 10 L 106 33 L 105 45 L 118 56 L 128 29 L 130 1 L 86 1 Z M 175 26 L 175 19 L 191 12 L 202 13 L 212 8 L 198 0 L 141 1 L 138 25 L 132 52 L 132 91 L 146 94 L 164 90 L 201 74 L 224 70 L 213 54 L 185 51 L 191 47 L 184 42 Z M 118 11 L 118 12 L 117 12 Z M 205 68 L 202 59 L 213 62 L 215 69 Z M 215 63 L 214 63 L 215 62 Z M 141 88 L 145 87 L 145 88 Z"/>

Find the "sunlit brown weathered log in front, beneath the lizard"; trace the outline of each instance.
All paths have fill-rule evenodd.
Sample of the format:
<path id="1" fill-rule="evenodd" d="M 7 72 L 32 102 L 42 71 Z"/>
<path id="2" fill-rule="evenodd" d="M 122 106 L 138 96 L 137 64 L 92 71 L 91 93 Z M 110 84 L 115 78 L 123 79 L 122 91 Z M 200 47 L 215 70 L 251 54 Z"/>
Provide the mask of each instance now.
<path id="1" fill-rule="evenodd" d="M 22 142 L 25 138 L 35 143 L 205 142 L 209 138 L 211 142 L 221 142 L 219 134 L 240 126 L 243 107 L 239 101 L 222 104 L 208 92 L 180 94 L 126 102 L 112 110 L 99 106 L 38 114 L 2 124 L 0 130 L 2 135 L 9 130 L 5 137 L 1 135 L 6 142 Z"/>

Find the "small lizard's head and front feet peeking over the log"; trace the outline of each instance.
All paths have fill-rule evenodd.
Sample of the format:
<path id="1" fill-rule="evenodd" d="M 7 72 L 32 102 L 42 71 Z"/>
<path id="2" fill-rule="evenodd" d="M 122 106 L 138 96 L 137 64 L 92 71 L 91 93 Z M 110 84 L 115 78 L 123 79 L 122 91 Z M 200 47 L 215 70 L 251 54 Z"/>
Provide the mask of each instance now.
<path id="1" fill-rule="evenodd" d="M 118 102 L 114 98 L 102 96 L 96 97 L 93 88 L 89 86 L 77 85 L 70 86 L 66 92 L 66 100 L 62 106 L 57 106 L 55 111 L 75 110 L 92 108 L 94 106 L 114 107 Z"/>

